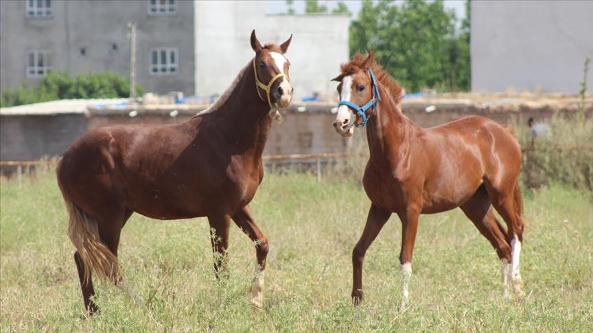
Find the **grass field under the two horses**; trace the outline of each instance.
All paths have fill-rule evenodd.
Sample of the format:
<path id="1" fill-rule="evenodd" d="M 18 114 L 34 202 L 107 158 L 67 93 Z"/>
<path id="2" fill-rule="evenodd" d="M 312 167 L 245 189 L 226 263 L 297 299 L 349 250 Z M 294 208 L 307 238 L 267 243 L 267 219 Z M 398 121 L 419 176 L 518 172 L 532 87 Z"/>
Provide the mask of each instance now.
<path id="1" fill-rule="evenodd" d="M 358 178 L 357 178 L 358 179 Z M 233 225 L 231 274 L 217 282 L 205 219 L 133 215 L 121 236 L 124 276 L 148 299 L 136 306 L 95 284 L 102 312 L 84 319 L 73 246 L 54 173 L 1 184 L 0 328 L 13 331 L 592 332 L 593 204 L 560 186 L 525 193 L 525 297 L 500 297 L 495 251 L 461 210 L 423 215 L 410 284 L 399 306 L 400 223 L 367 253 L 364 303 L 353 308 L 351 250 L 369 199 L 356 182 L 266 175 L 251 210 L 270 240 L 263 310 L 248 306 L 253 244 Z"/>

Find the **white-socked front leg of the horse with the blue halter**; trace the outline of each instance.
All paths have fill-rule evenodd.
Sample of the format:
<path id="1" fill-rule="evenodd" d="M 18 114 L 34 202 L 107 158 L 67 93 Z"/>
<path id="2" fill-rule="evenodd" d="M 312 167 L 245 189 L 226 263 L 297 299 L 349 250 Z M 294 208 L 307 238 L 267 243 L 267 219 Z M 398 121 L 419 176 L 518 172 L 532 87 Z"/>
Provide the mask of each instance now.
<path id="1" fill-rule="evenodd" d="M 405 310 L 410 305 L 408 285 L 412 277 L 412 252 L 416 241 L 420 210 L 421 208 L 410 205 L 406 212 L 398 213 L 399 219 L 402 221 L 402 250 L 399 252 L 399 264 L 402 272 L 402 303 L 399 310 Z"/>

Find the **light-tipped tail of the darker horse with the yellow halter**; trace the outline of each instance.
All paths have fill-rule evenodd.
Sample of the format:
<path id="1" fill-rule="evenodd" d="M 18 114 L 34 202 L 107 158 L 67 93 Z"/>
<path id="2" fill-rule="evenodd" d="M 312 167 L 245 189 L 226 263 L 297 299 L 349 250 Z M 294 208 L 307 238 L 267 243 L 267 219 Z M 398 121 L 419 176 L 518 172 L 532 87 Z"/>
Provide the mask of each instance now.
<path id="1" fill-rule="evenodd" d="M 119 276 L 117 257 L 102 242 L 97 221 L 71 200 L 64 198 L 70 216 L 68 236 L 84 264 L 84 280 L 89 282 L 91 272 L 100 279 L 116 281 Z"/>

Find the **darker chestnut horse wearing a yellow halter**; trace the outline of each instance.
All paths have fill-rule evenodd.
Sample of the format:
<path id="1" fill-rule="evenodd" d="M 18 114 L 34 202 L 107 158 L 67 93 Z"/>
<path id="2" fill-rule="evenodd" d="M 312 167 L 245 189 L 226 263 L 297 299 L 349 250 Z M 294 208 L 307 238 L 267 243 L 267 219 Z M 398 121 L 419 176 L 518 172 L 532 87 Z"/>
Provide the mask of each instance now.
<path id="1" fill-rule="evenodd" d="M 263 306 L 268 240 L 248 204 L 264 177 L 261 153 L 272 114 L 292 98 L 290 62 L 283 56 L 290 40 L 261 46 L 254 30 L 255 58 L 216 103 L 188 121 L 100 127 L 64 153 L 58 184 L 70 216 L 84 306 L 91 314 L 97 311 L 91 275 L 108 277 L 139 301 L 121 279 L 117 262 L 121 228 L 133 212 L 161 220 L 207 217 L 217 277 L 226 262 L 232 219 L 255 242 L 251 303 Z"/>

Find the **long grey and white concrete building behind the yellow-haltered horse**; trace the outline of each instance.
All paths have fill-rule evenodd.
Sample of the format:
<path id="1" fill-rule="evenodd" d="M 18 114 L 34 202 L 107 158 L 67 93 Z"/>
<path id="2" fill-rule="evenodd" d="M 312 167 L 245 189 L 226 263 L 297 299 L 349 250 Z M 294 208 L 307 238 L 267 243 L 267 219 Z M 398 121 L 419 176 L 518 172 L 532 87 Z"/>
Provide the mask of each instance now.
<path id="1" fill-rule="evenodd" d="M 329 79 L 348 60 L 347 16 L 268 15 L 266 1 L 0 1 L 0 87 L 37 84 L 47 71 L 130 73 L 128 23 L 137 25 L 137 82 L 159 94 L 222 93 L 261 42 L 294 34 L 295 97 L 335 97 Z"/>

